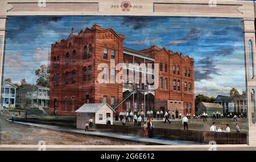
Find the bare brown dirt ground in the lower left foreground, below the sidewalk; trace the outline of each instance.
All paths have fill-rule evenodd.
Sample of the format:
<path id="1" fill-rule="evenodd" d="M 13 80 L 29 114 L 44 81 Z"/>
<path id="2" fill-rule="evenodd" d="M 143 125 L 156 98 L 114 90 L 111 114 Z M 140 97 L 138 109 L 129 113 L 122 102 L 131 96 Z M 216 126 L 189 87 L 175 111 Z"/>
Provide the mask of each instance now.
<path id="1" fill-rule="evenodd" d="M 69 145 L 137 145 L 145 144 L 129 142 L 114 138 L 96 137 L 65 133 L 56 130 L 42 129 L 33 126 L 19 125 L 0 119 L 0 144 L 38 144 L 43 140 L 48 145 L 69 144 Z"/>

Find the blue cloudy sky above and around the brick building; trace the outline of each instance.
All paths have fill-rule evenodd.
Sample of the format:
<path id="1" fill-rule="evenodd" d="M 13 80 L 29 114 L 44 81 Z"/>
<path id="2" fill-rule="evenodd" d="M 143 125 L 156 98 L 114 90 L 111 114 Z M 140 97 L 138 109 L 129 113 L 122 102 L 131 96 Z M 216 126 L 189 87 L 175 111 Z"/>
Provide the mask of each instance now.
<path id="1" fill-rule="evenodd" d="M 243 25 L 238 18 L 168 16 L 10 16 L 7 22 L 4 79 L 35 83 L 34 71 L 48 64 L 51 44 L 99 24 L 125 36 L 124 46 L 152 45 L 195 60 L 195 93 L 228 95 L 245 91 Z"/>

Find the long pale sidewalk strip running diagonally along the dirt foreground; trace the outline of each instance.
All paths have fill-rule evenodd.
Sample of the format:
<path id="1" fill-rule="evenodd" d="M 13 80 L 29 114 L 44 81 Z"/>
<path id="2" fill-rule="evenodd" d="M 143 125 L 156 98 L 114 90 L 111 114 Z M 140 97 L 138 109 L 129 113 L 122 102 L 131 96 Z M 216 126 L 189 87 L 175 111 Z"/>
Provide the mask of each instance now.
<path id="1" fill-rule="evenodd" d="M 9 118 L 6 118 L 6 121 L 11 122 L 11 120 L 9 120 Z M 150 143 L 150 144 L 167 144 L 167 145 L 202 144 L 200 142 L 183 141 L 183 140 L 167 140 L 167 139 L 161 139 L 161 138 L 147 138 L 146 139 L 146 138 L 138 137 L 138 136 L 134 136 L 134 135 L 122 135 L 122 134 L 117 134 L 117 133 L 108 133 L 108 132 L 99 132 L 99 131 L 84 131 L 81 129 L 71 129 L 71 128 L 65 128 L 65 127 L 60 127 L 60 126 L 43 125 L 43 124 L 38 124 L 38 123 L 28 123 L 28 122 L 18 122 L 18 121 L 14 121 L 14 123 L 27 125 L 27 126 L 42 127 L 44 129 L 65 131 L 65 132 L 69 132 L 69 133 L 97 135 L 97 136 L 102 136 L 102 137 L 117 138 L 117 139 L 122 139 L 122 140 L 130 140 L 130 141 L 144 142 L 144 143 Z"/>

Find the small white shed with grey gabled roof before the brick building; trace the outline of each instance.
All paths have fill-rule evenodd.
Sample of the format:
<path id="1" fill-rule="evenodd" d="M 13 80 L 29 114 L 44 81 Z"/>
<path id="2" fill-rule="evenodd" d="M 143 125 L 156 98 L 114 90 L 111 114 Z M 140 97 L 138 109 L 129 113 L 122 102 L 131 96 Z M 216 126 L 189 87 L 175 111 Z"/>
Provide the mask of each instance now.
<path id="1" fill-rule="evenodd" d="M 85 123 L 92 117 L 93 124 L 106 124 L 107 118 L 110 117 L 110 123 L 113 125 L 113 113 L 115 110 L 108 104 L 84 104 L 76 110 L 77 129 L 85 129 Z"/>

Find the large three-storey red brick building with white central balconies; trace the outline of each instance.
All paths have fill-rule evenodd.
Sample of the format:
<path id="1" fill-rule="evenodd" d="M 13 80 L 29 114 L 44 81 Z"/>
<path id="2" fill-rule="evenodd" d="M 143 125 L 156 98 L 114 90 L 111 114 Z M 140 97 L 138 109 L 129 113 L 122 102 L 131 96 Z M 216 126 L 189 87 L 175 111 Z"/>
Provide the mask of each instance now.
<path id="1" fill-rule="evenodd" d="M 119 111 L 177 108 L 195 113 L 193 59 L 158 46 L 141 51 L 125 48 L 124 40 L 112 28 L 93 25 L 52 44 L 50 113 L 75 115 L 84 103 L 108 103 Z M 145 79 L 152 73 L 122 65 L 115 69 L 118 63 L 157 63 L 158 88 L 150 89 L 152 84 Z M 139 78 L 129 75 L 134 71 Z M 98 80 L 101 74 L 105 83 Z"/>

